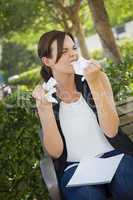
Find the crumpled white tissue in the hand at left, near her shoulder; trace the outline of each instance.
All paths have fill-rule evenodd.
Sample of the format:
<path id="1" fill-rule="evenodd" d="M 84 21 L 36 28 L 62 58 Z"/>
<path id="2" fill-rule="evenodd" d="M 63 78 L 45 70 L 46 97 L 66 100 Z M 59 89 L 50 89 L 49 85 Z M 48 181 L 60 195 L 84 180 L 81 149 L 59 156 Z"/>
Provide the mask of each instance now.
<path id="1" fill-rule="evenodd" d="M 44 82 L 42 84 L 42 87 L 46 92 L 44 96 L 49 102 L 58 103 L 58 101 L 52 97 L 52 94 L 56 92 L 56 88 L 54 87 L 56 84 L 57 82 L 53 77 L 51 77 L 47 83 Z"/>

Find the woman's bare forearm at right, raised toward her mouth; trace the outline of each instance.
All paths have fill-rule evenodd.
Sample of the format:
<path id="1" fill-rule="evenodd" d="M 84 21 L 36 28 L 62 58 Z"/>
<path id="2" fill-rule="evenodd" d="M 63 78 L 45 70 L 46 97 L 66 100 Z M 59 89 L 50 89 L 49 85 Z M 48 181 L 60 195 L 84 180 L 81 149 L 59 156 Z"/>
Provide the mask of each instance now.
<path id="1" fill-rule="evenodd" d="M 87 83 L 96 104 L 100 127 L 105 135 L 114 137 L 117 134 L 120 121 L 112 94 L 108 90 L 109 87 L 105 85 L 100 77 L 93 82 L 87 80 Z"/>

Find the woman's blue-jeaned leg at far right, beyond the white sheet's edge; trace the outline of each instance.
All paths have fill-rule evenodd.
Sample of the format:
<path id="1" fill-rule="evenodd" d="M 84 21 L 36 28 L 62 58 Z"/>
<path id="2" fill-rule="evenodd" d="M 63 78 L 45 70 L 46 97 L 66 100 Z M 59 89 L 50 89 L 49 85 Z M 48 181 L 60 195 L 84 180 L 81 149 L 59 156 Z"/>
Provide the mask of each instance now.
<path id="1" fill-rule="evenodd" d="M 133 156 L 125 154 L 108 188 L 114 199 L 133 200 Z"/>

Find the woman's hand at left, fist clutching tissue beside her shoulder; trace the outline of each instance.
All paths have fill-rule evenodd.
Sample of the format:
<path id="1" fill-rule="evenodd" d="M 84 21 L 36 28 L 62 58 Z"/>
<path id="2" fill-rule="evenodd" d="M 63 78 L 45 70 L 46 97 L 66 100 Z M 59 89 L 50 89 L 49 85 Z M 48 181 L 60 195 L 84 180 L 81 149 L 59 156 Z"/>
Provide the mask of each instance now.
<path id="1" fill-rule="evenodd" d="M 45 94 L 47 91 L 45 91 L 42 87 L 42 85 L 37 85 L 33 92 L 32 92 L 32 96 L 33 98 L 36 99 L 36 106 L 37 109 L 43 109 L 43 108 L 52 108 L 52 103 L 49 102 L 46 98 L 45 98 Z"/>

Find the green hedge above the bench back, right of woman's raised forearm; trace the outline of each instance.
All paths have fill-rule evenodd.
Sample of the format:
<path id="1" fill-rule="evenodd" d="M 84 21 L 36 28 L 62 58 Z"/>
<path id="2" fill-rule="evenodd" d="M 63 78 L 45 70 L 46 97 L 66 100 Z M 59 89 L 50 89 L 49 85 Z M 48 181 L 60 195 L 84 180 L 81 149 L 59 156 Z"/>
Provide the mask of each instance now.
<path id="1" fill-rule="evenodd" d="M 110 79 L 115 101 L 133 96 L 133 55 L 124 56 L 121 64 L 106 62 L 105 72 Z"/>

